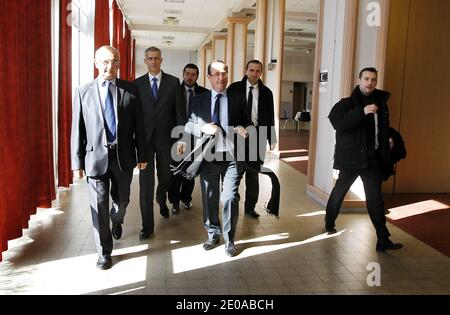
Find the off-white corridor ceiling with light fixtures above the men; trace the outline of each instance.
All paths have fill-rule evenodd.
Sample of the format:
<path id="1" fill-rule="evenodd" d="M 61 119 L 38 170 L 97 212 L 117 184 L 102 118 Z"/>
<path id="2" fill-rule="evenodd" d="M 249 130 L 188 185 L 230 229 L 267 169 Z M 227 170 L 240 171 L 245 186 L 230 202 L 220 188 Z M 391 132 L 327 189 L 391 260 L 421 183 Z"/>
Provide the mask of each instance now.
<path id="1" fill-rule="evenodd" d="M 226 17 L 255 16 L 256 0 L 117 0 L 136 44 L 197 50 Z M 314 48 L 318 0 L 286 0 L 285 49 Z M 249 24 L 253 45 L 254 21 Z"/>

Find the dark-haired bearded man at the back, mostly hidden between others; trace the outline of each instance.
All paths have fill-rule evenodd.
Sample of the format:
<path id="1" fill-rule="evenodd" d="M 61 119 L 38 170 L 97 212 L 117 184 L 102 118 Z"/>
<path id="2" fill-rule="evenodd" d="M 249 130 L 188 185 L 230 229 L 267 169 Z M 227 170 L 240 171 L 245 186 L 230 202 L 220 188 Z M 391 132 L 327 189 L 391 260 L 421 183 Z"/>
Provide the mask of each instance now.
<path id="1" fill-rule="evenodd" d="M 187 64 L 183 69 L 183 82 L 181 83 L 181 92 L 183 94 L 184 104 L 186 105 L 186 113 L 190 100 L 208 90 L 197 84 L 198 67 L 193 64 Z M 187 120 L 187 117 L 186 117 Z M 192 144 L 193 141 L 191 141 Z M 190 148 L 192 149 L 192 148 Z M 194 191 L 195 180 L 186 179 L 181 175 L 172 175 L 169 184 L 169 202 L 172 204 L 172 213 L 180 212 L 180 201 L 186 210 L 192 207 L 192 192 Z"/>

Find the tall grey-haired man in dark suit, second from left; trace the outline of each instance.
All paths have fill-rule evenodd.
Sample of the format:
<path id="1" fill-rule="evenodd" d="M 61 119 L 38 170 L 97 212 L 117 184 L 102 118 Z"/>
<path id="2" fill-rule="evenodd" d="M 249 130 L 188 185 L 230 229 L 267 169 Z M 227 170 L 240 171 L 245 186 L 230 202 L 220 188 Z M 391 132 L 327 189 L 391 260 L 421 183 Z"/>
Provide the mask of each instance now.
<path id="1" fill-rule="evenodd" d="M 161 71 L 161 50 L 156 47 L 147 48 L 144 61 L 148 73 L 135 81 L 144 112 L 146 151 L 149 159 L 149 167 L 139 174 L 142 215 L 140 239 L 148 239 L 154 230 L 155 159 L 158 176 L 156 202 L 159 204 L 160 214 L 166 219 L 169 218 L 166 199 L 170 181 L 171 133 L 172 128 L 184 125 L 186 120 L 180 81 Z"/>

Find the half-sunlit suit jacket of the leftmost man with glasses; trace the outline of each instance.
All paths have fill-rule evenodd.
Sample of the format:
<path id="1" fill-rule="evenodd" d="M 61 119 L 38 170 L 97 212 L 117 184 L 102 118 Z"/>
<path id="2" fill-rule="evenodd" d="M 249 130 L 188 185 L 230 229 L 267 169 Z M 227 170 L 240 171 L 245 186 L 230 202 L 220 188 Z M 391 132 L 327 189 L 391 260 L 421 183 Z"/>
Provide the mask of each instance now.
<path id="1" fill-rule="evenodd" d="M 146 162 L 142 107 L 131 82 L 116 79 L 117 86 L 117 160 L 122 172 L 132 172 Z M 75 91 L 72 107 L 72 170 L 86 176 L 100 176 L 108 169 L 106 131 L 97 79 Z"/>

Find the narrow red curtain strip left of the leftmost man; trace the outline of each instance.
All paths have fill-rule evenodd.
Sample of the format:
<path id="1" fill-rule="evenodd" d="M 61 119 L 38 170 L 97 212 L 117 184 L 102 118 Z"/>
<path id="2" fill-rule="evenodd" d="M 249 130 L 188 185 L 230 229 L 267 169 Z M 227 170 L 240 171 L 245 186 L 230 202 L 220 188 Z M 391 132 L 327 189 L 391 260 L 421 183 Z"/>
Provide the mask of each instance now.
<path id="1" fill-rule="evenodd" d="M 58 69 L 58 186 L 72 184 L 70 128 L 72 122 L 72 28 L 67 24 L 67 5 L 60 0 Z"/>

